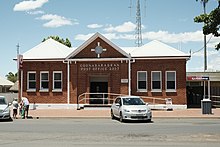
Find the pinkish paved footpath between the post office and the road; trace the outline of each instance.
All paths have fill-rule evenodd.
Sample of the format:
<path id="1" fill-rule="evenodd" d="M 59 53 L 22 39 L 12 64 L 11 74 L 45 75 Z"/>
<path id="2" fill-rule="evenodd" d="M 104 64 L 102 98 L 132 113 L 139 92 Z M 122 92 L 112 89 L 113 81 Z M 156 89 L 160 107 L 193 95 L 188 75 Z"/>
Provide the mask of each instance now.
<path id="1" fill-rule="evenodd" d="M 41 118 L 110 118 L 110 109 L 36 109 L 29 110 L 33 119 Z M 214 118 L 220 119 L 220 108 L 213 108 L 212 114 L 202 114 L 202 109 L 152 110 L 154 118 Z"/>

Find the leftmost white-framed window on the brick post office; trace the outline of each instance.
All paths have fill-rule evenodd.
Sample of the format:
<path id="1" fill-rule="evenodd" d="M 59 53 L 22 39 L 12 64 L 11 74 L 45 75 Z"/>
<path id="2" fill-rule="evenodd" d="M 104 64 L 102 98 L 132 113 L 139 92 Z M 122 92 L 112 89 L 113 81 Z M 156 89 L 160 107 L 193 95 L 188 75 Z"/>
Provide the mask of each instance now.
<path id="1" fill-rule="evenodd" d="M 35 71 L 27 73 L 27 90 L 36 91 L 36 72 Z"/>

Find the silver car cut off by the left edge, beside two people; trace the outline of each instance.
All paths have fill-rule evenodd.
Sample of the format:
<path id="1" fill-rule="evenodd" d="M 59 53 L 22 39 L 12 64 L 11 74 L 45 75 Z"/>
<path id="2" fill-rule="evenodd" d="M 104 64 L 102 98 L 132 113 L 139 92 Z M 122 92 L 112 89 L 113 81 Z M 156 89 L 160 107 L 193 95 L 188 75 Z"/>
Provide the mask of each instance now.
<path id="1" fill-rule="evenodd" d="M 9 104 L 4 96 L 0 96 L 0 119 L 11 120 Z"/>

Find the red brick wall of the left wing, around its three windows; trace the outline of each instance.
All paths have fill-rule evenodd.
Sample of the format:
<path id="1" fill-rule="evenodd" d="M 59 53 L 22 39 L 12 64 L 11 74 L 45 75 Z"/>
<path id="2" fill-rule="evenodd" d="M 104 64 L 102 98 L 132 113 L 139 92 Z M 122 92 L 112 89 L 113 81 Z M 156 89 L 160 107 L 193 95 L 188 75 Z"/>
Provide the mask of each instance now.
<path id="1" fill-rule="evenodd" d="M 36 92 L 27 92 L 27 72 L 36 72 Z M 49 91 L 40 92 L 40 72 L 49 71 Z M 52 92 L 53 71 L 62 71 L 62 92 Z M 23 96 L 30 103 L 67 103 L 67 64 L 63 62 L 23 62 Z"/>

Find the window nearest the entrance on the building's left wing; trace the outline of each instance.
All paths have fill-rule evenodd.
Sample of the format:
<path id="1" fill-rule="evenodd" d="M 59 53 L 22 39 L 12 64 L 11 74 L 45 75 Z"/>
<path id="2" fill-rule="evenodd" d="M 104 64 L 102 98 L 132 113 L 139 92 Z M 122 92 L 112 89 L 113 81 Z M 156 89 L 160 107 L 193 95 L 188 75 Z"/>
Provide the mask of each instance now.
<path id="1" fill-rule="evenodd" d="M 53 72 L 53 91 L 62 91 L 62 71 Z"/>

